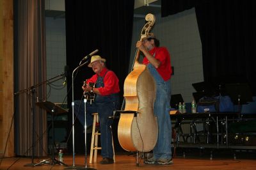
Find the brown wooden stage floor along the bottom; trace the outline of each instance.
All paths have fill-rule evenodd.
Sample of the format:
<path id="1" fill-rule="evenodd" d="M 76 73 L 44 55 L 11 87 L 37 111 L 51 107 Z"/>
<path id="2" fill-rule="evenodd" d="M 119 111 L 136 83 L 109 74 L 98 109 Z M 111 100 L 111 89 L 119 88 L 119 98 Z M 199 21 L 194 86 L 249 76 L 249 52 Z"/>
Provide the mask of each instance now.
<path id="1" fill-rule="evenodd" d="M 143 164 L 143 159 L 139 159 L 139 166 L 136 166 L 136 157 L 134 155 L 127 155 L 124 153 L 116 154 L 116 162 L 115 164 L 109 165 L 101 165 L 99 161 L 102 159 L 100 155 L 98 155 L 98 163 L 89 164 L 89 156 L 88 158 L 88 168 L 93 169 L 148 169 L 148 170 L 156 170 L 156 169 L 255 169 L 256 167 L 256 158 L 243 158 L 243 159 L 234 159 L 232 157 L 229 158 L 210 158 L 206 157 L 194 157 L 194 158 L 183 158 L 176 157 L 173 158 L 173 164 L 168 166 L 156 166 L 156 165 L 146 165 Z M 51 156 L 47 157 L 51 158 Z M 46 159 L 47 159 L 46 158 Z M 44 158 L 34 158 L 34 162 L 38 163 L 40 160 Z M 68 169 L 72 169 L 73 157 L 72 155 L 64 155 L 63 162 L 68 165 Z M 0 169 L 67 169 L 65 166 L 60 166 L 58 164 L 44 164 L 42 166 L 36 167 L 24 167 L 26 164 L 31 163 L 31 158 L 28 157 L 13 157 L 13 158 L 3 158 L 0 160 Z M 77 167 L 84 167 L 84 155 L 76 155 L 75 157 L 75 165 Z M 74 168 L 75 169 L 75 168 Z M 78 168 L 77 168 L 78 169 Z M 84 168 L 85 169 L 85 168 Z"/>

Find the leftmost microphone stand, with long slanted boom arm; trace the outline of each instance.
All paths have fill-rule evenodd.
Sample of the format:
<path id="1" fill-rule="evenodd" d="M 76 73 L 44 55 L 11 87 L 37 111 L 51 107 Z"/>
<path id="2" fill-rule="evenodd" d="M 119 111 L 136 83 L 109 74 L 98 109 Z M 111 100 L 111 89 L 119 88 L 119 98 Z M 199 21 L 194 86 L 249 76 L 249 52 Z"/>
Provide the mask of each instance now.
<path id="1" fill-rule="evenodd" d="M 31 133 L 32 133 L 32 155 L 31 155 L 31 163 L 30 164 L 26 164 L 24 166 L 35 166 L 36 164 L 34 163 L 34 147 L 35 147 L 35 88 L 39 87 L 39 86 L 42 86 L 43 84 L 47 84 L 47 82 L 49 81 L 58 81 L 59 79 L 61 79 L 63 77 L 64 74 L 60 74 L 60 75 L 57 75 L 56 77 L 52 77 L 51 79 L 49 80 L 46 80 L 46 81 L 43 81 L 43 82 L 40 82 L 38 84 L 36 84 L 35 86 L 31 86 L 30 88 L 27 88 L 27 89 L 22 89 L 16 93 L 14 93 L 14 95 L 19 95 L 20 93 L 24 93 L 26 91 L 31 91 L 32 93 L 32 96 L 31 96 L 31 102 L 32 102 L 32 111 L 31 111 L 31 124 L 32 124 L 32 129 L 31 129 Z M 58 79 L 57 79 L 58 78 Z M 54 81 L 53 81 L 54 80 Z M 30 148 L 29 148 L 30 149 Z"/>

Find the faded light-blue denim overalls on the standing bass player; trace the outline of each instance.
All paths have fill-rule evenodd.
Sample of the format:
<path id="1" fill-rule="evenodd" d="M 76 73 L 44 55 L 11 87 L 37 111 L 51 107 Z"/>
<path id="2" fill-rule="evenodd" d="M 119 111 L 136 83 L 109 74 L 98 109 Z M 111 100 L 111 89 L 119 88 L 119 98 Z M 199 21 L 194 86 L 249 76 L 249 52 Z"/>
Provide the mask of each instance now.
<path id="1" fill-rule="evenodd" d="M 156 100 L 154 114 L 157 117 L 158 137 L 153 149 L 154 158 L 172 158 L 172 123 L 170 120 L 171 83 L 164 81 L 156 68 L 148 63 L 147 68 L 156 82 Z"/>

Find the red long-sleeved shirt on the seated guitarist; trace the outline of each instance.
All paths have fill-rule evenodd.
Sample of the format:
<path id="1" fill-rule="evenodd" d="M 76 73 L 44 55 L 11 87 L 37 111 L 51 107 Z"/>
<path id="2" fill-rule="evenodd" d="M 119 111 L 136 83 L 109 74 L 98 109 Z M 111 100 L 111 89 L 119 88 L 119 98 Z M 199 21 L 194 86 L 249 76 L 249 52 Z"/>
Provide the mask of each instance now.
<path id="1" fill-rule="evenodd" d="M 105 77 L 104 77 L 104 75 L 105 75 Z M 99 75 L 97 75 L 95 73 L 95 75 L 93 75 L 90 79 L 88 79 L 87 82 L 95 83 L 98 79 L 98 76 L 104 77 L 104 79 L 103 79 L 104 87 L 103 88 L 97 88 L 97 89 L 99 89 L 100 95 L 107 96 L 107 95 L 111 95 L 113 93 L 118 93 L 120 91 L 120 89 L 119 89 L 119 80 L 118 80 L 118 78 L 116 77 L 116 74 L 113 71 L 108 70 L 105 67 L 99 73 Z"/>

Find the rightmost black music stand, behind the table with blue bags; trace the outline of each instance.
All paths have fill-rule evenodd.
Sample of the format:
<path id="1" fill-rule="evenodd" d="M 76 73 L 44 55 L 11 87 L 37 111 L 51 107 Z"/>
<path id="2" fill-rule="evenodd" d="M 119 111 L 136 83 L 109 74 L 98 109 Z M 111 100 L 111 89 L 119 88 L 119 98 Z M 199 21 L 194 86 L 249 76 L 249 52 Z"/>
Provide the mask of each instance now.
<path id="1" fill-rule="evenodd" d="M 232 83 L 225 84 L 228 96 L 231 98 L 232 102 L 238 105 L 238 119 L 240 120 L 241 104 L 248 104 L 247 102 L 252 102 L 252 91 L 247 83 Z"/>

